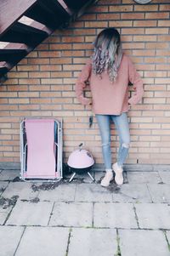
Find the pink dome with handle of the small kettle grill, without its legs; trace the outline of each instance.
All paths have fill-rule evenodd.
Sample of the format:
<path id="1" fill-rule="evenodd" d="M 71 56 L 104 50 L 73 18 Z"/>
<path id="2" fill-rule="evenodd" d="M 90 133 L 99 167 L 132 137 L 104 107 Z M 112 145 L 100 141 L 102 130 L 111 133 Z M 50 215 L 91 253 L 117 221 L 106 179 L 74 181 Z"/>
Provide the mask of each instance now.
<path id="1" fill-rule="evenodd" d="M 90 168 L 94 165 L 94 157 L 88 151 L 82 150 L 81 143 L 79 150 L 71 153 L 67 164 L 71 168 Z"/>

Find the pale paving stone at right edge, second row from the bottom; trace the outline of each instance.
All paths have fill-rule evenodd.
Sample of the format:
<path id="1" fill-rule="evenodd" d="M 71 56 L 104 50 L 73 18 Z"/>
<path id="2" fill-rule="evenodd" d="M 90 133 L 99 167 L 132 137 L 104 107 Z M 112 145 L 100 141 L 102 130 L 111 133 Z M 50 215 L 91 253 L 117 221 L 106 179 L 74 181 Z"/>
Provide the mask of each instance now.
<path id="1" fill-rule="evenodd" d="M 140 228 L 170 229 L 170 207 L 166 203 L 139 203 L 134 207 Z"/>

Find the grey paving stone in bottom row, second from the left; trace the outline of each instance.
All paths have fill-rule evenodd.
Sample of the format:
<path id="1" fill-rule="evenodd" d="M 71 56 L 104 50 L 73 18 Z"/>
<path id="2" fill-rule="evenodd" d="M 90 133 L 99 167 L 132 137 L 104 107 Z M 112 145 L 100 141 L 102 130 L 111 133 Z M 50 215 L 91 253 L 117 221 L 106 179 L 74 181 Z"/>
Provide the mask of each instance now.
<path id="1" fill-rule="evenodd" d="M 69 229 L 26 227 L 15 256 L 65 256 Z"/>

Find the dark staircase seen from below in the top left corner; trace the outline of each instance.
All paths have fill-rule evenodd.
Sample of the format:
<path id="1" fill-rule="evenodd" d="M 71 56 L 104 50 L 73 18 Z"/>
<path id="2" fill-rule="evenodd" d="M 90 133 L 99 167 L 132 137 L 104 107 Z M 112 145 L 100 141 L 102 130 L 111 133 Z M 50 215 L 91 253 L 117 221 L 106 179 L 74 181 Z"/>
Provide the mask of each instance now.
<path id="1" fill-rule="evenodd" d="M 1 0 L 0 79 L 29 54 L 39 43 L 59 27 L 67 27 L 96 0 Z M 22 17 L 31 18 L 31 24 L 20 22 Z"/>

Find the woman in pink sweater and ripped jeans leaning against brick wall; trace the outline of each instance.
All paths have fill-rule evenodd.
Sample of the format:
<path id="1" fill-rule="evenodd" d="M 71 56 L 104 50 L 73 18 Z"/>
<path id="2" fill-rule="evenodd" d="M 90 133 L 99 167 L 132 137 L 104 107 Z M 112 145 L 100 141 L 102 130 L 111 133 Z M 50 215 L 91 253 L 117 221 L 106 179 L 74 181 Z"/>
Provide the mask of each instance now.
<path id="1" fill-rule="evenodd" d="M 83 96 L 83 88 L 90 83 L 92 100 Z M 135 93 L 128 99 L 128 83 L 133 84 Z M 92 105 L 99 125 L 102 153 L 105 162 L 105 177 L 102 186 L 110 185 L 115 172 L 117 185 L 123 183 L 123 163 L 130 144 L 127 111 L 129 105 L 137 104 L 143 94 L 143 82 L 127 54 L 122 53 L 119 32 L 107 28 L 99 32 L 94 42 L 94 54 L 83 67 L 76 84 L 77 99 L 82 105 Z M 115 123 L 119 135 L 117 162 L 111 165 L 110 121 Z"/>

